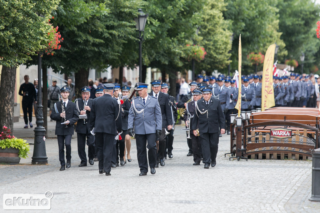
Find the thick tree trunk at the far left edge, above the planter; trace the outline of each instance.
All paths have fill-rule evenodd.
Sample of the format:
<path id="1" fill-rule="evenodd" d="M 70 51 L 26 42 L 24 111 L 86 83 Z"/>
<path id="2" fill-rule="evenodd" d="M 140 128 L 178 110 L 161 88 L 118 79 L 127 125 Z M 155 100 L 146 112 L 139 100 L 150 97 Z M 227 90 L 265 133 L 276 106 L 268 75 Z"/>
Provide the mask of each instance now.
<path id="1" fill-rule="evenodd" d="M 0 127 L 2 129 L 2 127 L 5 125 L 6 127 L 12 130 L 12 133 L 16 71 L 17 67 L 3 66 L 0 82 Z"/>

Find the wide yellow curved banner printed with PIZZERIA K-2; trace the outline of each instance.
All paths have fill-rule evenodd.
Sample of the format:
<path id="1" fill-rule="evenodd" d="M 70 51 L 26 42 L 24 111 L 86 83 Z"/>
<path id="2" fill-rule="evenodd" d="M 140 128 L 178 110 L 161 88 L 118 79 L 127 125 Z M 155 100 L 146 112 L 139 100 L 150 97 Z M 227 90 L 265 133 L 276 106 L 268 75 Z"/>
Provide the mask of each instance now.
<path id="1" fill-rule="evenodd" d="M 268 47 L 263 62 L 262 73 L 262 91 L 261 91 L 261 111 L 275 106 L 275 96 L 273 91 L 273 63 L 275 56 L 276 44 Z"/>

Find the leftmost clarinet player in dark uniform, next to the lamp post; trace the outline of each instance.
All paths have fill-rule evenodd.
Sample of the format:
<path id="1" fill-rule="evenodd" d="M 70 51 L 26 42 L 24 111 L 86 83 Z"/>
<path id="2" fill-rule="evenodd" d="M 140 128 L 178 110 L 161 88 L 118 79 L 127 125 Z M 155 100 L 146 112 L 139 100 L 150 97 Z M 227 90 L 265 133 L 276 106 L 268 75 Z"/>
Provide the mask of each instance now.
<path id="1" fill-rule="evenodd" d="M 70 87 L 64 86 L 60 89 L 61 101 L 54 104 L 50 118 L 56 121 L 55 135 L 58 138 L 60 171 L 69 169 L 71 166 L 71 137 L 74 133 L 74 124 L 79 116 L 76 104 L 68 100 Z M 61 124 L 65 122 L 65 124 Z M 64 160 L 64 146 L 66 146 L 67 165 Z"/>

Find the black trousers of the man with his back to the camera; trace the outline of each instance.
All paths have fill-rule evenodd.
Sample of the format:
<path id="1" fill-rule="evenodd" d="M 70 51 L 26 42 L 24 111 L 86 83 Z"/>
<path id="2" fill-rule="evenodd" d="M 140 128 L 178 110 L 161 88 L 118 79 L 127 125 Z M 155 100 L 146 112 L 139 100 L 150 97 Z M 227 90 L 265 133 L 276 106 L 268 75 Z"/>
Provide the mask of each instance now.
<path id="1" fill-rule="evenodd" d="M 106 132 L 97 132 L 95 134 L 97 142 L 97 154 L 99 160 L 99 170 L 105 172 L 111 171 L 111 157 L 113 146 L 115 145 L 115 135 Z M 116 146 L 115 146 L 116 147 Z"/>

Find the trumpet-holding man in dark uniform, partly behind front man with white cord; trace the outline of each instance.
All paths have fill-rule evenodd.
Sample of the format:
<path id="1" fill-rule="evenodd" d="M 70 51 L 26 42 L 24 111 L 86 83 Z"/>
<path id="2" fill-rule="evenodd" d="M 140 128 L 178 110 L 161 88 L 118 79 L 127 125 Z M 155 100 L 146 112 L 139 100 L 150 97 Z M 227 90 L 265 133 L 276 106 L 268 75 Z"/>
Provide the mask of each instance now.
<path id="1" fill-rule="evenodd" d="M 202 98 L 202 91 L 196 89 L 193 91 L 193 101 L 187 104 L 186 113 L 183 116 L 183 120 L 186 123 L 186 126 L 191 127 L 192 122 L 194 122 L 194 115 L 196 114 L 196 101 Z M 188 123 L 190 119 L 190 124 Z M 197 126 L 199 129 L 199 125 Z M 193 152 L 193 165 L 200 165 L 202 150 L 200 146 L 200 140 L 198 135 L 194 135 L 193 131 L 190 130 L 190 138 L 192 141 L 192 152 Z"/>

